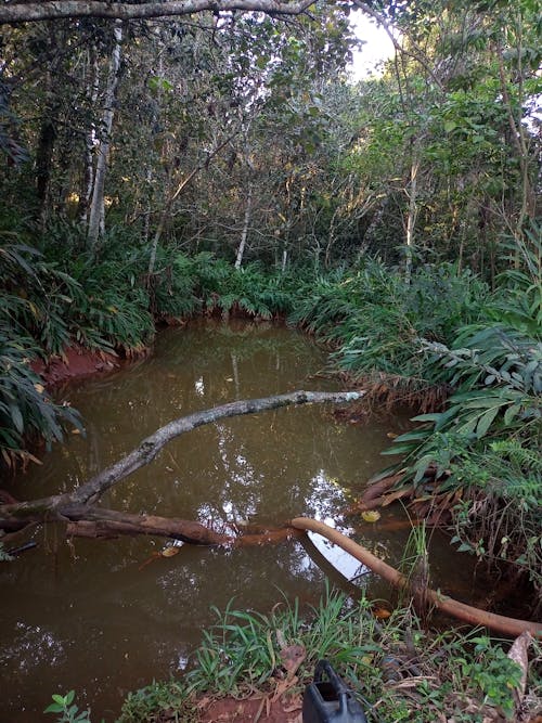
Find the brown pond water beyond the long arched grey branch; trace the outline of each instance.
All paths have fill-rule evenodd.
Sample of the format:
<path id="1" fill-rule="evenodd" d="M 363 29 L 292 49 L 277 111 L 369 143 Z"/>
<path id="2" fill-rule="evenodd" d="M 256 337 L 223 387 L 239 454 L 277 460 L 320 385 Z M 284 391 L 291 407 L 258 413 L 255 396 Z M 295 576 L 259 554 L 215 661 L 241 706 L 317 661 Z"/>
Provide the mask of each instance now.
<path id="1" fill-rule="evenodd" d="M 322 353 L 308 339 L 271 325 L 208 322 L 166 330 L 150 358 L 63 389 L 60 398 L 81 411 L 88 440 L 70 437 L 64 451 L 57 447 L 48 455 L 46 467 L 54 461 L 50 491 L 63 480 L 66 488 L 85 481 L 173 418 L 242 396 L 306 386 L 321 363 Z M 39 494 L 42 482 L 43 474 Z"/>

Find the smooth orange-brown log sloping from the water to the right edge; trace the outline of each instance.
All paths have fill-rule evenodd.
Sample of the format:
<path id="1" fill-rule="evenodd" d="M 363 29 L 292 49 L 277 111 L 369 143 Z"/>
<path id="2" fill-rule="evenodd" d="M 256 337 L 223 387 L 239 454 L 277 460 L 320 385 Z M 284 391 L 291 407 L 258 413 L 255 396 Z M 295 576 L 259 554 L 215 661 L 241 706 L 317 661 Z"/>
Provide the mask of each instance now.
<path id="1" fill-rule="evenodd" d="M 369 550 L 362 547 L 353 540 L 350 540 L 350 538 L 347 538 L 338 530 L 325 525 L 325 522 L 320 522 L 310 517 L 296 517 L 291 521 L 291 525 L 299 530 L 321 534 L 330 540 L 330 542 L 333 542 L 345 552 L 352 555 L 352 557 L 356 557 L 360 563 L 363 563 L 363 565 L 371 568 L 373 572 L 379 574 L 387 580 L 387 582 L 401 590 L 410 591 L 413 595 L 416 594 L 415 590 L 412 590 L 409 579 L 399 572 L 399 570 L 387 565 L 369 552 Z M 463 620 L 464 622 L 468 622 L 473 625 L 482 625 L 503 635 L 513 637 L 517 637 L 527 631 L 531 633 L 533 637 L 542 638 L 542 622 L 518 620 L 516 618 L 507 618 L 502 615 L 495 615 L 494 612 L 488 612 L 487 610 L 480 610 L 479 608 L 454 601 L 436 590 L 427 590 L 424 594 L 428 603 L 434 605 L 438 610 L 457 618 L 459 620 Z"/>

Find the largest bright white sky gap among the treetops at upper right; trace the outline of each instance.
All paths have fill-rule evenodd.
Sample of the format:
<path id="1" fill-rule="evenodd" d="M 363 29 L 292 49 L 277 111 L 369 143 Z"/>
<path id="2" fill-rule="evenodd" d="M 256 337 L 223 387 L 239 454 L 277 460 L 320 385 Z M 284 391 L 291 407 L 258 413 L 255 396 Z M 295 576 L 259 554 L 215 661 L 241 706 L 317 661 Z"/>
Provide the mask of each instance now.
<path id="1" fill-rule="evenodd" d="M 382 64 L 393 56 L 393 43 L 382 26 L 361 12 L 350 15 L 350 25 L 362 41 L 361 47 L 353 50 L 350 65 L 350 77 L 357 82 L 378 74 Z"/>

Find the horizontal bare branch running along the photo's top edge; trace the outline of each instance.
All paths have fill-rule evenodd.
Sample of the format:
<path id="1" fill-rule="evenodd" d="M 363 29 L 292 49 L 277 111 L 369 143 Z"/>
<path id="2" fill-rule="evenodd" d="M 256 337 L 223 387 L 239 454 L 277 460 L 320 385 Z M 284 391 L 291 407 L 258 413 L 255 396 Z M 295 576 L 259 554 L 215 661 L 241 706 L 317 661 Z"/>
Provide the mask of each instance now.
<path id="1" fill-rule="evenodd" d="M 44 0 L 43 2 L 2 2 L 0 24 L 59 20 L 62 17 L 109 17 L 133 20 L 191 15 L 205 10 L 262 12 L 270 15 L 299 15 L 314 0 L 171 0 L 166 2 L 103 2 L 102 0 Z"/>

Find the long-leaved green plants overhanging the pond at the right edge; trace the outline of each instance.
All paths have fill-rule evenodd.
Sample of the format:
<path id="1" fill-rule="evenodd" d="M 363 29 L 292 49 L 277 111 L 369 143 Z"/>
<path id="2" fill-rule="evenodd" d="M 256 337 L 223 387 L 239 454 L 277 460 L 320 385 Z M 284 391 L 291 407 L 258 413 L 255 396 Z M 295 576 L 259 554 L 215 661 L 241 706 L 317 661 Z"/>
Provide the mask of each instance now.
<path id="1" fill-rule="evenodd" d="M 451 348 L 423 341 L 434 378 L 456 391 L 443 412 L 414 417 L 422 426 L 398 437 L 387 453 L 401 455 L 404 479 L 422 489 L 436 465 L 439 490 L 461 498 L 460 550 L 513 563 L 541 592 L 542 344 L 527 334 L 529 324 L 518 326 L 465 326 Z"/>

